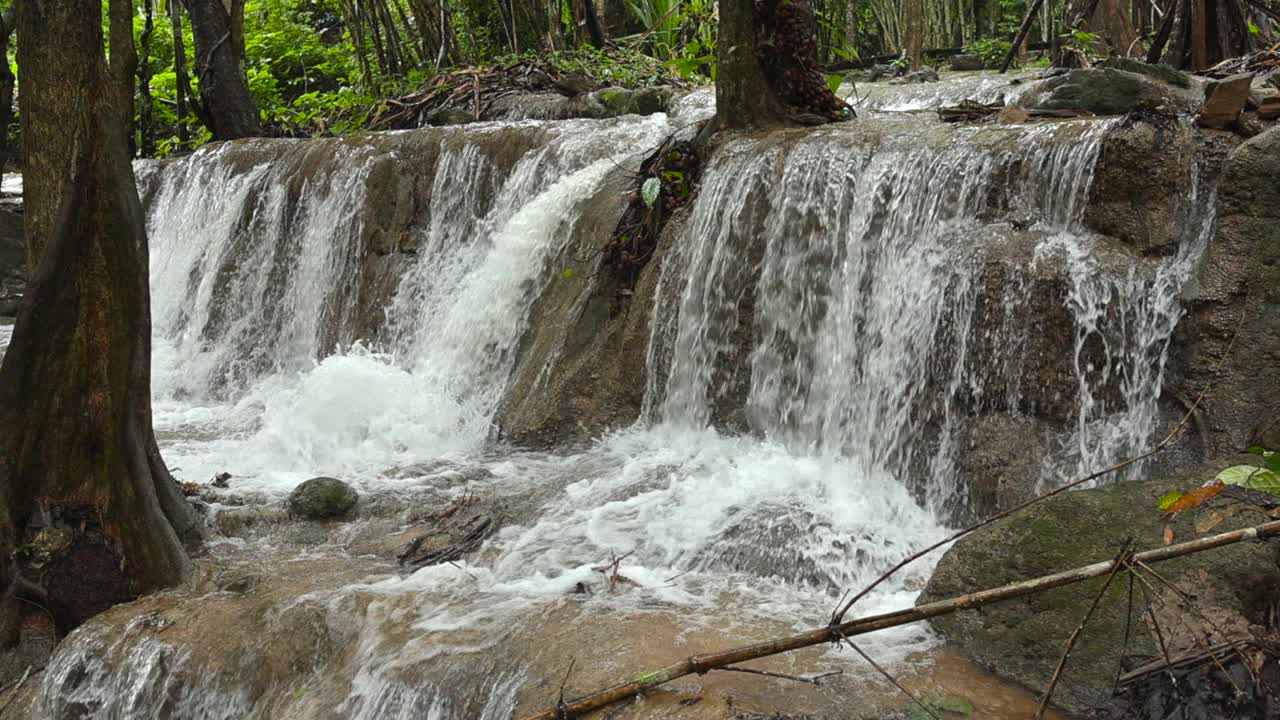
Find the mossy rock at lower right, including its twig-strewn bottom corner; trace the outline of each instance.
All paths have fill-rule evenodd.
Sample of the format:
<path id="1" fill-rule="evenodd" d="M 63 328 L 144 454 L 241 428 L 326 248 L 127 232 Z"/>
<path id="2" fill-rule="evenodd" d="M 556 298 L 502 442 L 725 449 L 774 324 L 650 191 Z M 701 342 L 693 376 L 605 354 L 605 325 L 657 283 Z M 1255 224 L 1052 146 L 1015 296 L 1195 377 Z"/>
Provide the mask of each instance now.
<path id="1" fill-rule="evenodd" d="M 1116 483 L 1042 501 L 959 541 L 938 562 L 918 602 L 1111 560 L 1125 541 L 1137 550 L 1160 547 L 1166 538 L 1166 523 L 1174 542 L 1184 542 L 1267 520 L 1265 507 L 1226 500 L 1215 500 L 1169 520 L 1157 507 L 1158 498 L 1171 489 L 1185 491 L 1196 484 L 1194 480 Z M 1129 692 L 1126 688 L 1149 679 L 1148 675 L 1155 676 L 1157 685 L 1165 683 L 1167 675 L 1144 675 L 1140 670 L 1167 651 L 1170 657 L 1198 659 L 1176 670 L 1187 693 L 1181 702 L 1194 708 L 1188 717 L 1275 717 L 1280 710 L 1274 694 L 1280 691 L 1275 682 L 1280 673 L 1276 655 L 1245 650 L 1265 685 L 1257 687 L 1248 673 L 1243 673 L 1243 682 L 1234 676 L 1240 656 L 1229 653 L 1215 664 L 1202 657 L 1201 651 L 1204 646 L 1219 647 L 1228 638 L 1242 650 L 1274 642 L 1276 629 L 1268 624 L 1274 623 L 1280 598 L 1277 560 L 1280 543 L 1263 542 L 1161 562 L 1134 582 L 1132 603 L 1126 578 L 1117 577 L 1079 635 L 1053 701 L 1080 716 L 1165 717 L 1164 701 L 1179 701 L 1171 697 L 1170 687 Z M 979 665 L 1041 691 L 1048 687 L 1069 635 L 1088 614 L 1105 582 L 1097 578 L 1023 600 L 964 610 L 938 618 L 933 625 Z M 1228 679 L 1224 671 L 1233 678 Z M 1116 696 L 1121 675 L 1126 675 L 1125 683 Z M 1238 683 L 1244 694 L 1222 692 L 1231 683 Z"/>

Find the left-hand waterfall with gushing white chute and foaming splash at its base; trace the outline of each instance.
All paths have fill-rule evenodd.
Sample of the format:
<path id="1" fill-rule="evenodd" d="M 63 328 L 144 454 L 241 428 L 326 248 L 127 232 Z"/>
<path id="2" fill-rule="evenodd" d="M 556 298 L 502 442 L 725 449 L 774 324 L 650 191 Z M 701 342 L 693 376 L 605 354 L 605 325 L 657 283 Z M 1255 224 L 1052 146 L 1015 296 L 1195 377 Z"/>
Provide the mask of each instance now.
<path id="1" fill-rule="evenodd" d="M 372 182 L 385 150 L 265 146 L 270 161 L 244 168 L 223 149 L 166 168 L 150 232 L 157 425 L 175 464 L 200 478 L 230 452 L 287 489 L 320 469 L 480 448 L 547 263 L 605 177 L 669 129 L 655 117 L 547 132 L 509 169 L 500 138 L 439 133 L 430 205 L 398 240 L 415 254 L 376 337 L 356 314 L 374 292 L 366 206 L 371 187 L 388 192 Z M 228 446 L 228 432 L 253 439 Z"/>

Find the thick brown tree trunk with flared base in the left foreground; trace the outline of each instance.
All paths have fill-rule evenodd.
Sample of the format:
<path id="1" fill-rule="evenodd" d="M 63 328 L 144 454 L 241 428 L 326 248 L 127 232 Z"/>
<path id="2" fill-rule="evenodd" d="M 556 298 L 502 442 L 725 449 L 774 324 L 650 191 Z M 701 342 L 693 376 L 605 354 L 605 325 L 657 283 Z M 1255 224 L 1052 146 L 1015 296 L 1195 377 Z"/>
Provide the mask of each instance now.
<path id="1" fill-rule="evenodd" d="M 120 27 L 132 6 L 113 0 L 110 12 Z M 13 639 L 15 598 L 69 632 L 180 582 L 183 542 L 198 537 L 151 428 L 147 242 L 129 97 L 102 55 L 101 19 L 96 0 L 19 10 L 26 233 L 38 263 L 0 365 L 0 642 Z"/>

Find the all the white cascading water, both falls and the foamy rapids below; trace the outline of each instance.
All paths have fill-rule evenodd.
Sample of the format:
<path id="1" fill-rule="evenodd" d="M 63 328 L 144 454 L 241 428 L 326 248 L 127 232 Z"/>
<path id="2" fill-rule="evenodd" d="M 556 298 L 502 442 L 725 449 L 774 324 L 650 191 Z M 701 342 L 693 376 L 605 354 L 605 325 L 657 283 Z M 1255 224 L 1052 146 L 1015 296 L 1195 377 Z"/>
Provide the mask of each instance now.
<path id="1" fill-rule="evenodd" d="M 682 113 L 705 114 L 707 100 Z M 314 610 L 324 637 L 340 641 L 339 659 L 314 660 L 340 676 L 306 680 L 338 688 L 328 715 L 302 688 L 264 691 L 274 700 L 255 705 L 234 674 L 177 687 L 164 675 L 195 660 L 164 635 L 86 630 L 46 673 L 37 716 L 168 707 L 498 720 L 529 679 L 508 646 L 548 642 L 538 628 L 556 612 L 570 624 L 604 610 L 609 621 L 662 612 L 682 626 L 699 616 L 812 625 L 833 592 L 941 537 L 964 503 L 955 464 L 966 414 L 1018 407 L 1025 392 L 1018 319 L 1034 279 L 987 292 L 993 218 L 1029 214 L 1018 232 L 1043 263 L 1087 247 L 1080 215 L 1110 124 L 877 117 L 731 141 L 662 261 L 649 347 L 632 348 L 649 368 L 641 421 L 573 454 L 504 447 L 494 418 L 531 307 L 559 282 L 554 259 L 593 202 L 617 201 L 620 167 L 634 169 L 682 124 L 659 115 L 232 145 L 148 170 L 156 425 L 182 477 L 227 470 L 241 496 L 278 500 L 334 474 L 366 497 L 484 492 L 524 510 L 471 560 L 407 577 L 379 566 L 270 610 L 280 624 Z M 434 165 L 415 173 L 413 163 Z M 408 229 L 392 232 L 371 208 Z M 1068 254 L 1079 423 L 1066 445 L 1080 450 L 1064 466 L 1149 442 L 1176 295 L 1208 234 L 1198 229 L 1151 274 L 1103 279 Z M 1093 334 L 1123 340 L 1106 348 L 1125 377 L 1121 406 L 1096 400 L 1105 383 L 1082 365 Z M 1094 432 L 1100 423 L 1110 429 Z M 436 465 L 483 473 L 449 489 Z M 564 610 L 567 593 L 618 556 L 634 589 Z M 910 603 L 928 570 L 913 566 L 859 611 Z M 933 643 L 899 629 L 865 647 L 897 662 Z"/>

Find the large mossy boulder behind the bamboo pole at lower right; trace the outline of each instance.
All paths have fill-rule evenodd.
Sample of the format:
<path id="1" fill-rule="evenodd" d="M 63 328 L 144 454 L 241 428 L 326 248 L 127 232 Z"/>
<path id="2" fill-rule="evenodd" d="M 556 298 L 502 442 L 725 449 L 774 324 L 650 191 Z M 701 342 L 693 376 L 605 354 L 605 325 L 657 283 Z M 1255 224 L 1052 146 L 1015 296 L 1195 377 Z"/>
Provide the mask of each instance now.
<path id="1" fill-rule="evenodd" d="M 1135 548 L 1158 547 L 1164 542 L 1165 514 L 1156 502 L 1165 492 L 1187 489 L 1189 484 L 1176 480 L 1117 483 L 1033 505 L 959 541 L 938 562 L 919 602 L 1110 560 L 1119 553 L 1125 538 L 1132 538 Z M 1197 524 L 1215 511 L 1204 507 L 1180 514 L 1170 525 L 1175 541 L 1197 537 Z M 1242 511 L 1212 532 L 1262 520 L 1265 516 L 1258 512 Z M 1234 618 L 1240 626 L 1261 624 L 1270 603 L 1280 596 L 1280 566 L 1274 542 L 1201 552 L 1161 562 L 1156 570 L 1169 582 L 1194 592 L 1202 601 L 1202 610 L 1219 619 Z M 937 618 L 933 625 L 980 665 L 1030 689 L 1043 689 L 1068 637 L 1103 583 L 1097 578 L 1023 600 L 964 610 Z M 1129 607 L 1126 583 L 1111 584 L 1071 652 L 1055 702 L 1078 714 L 1101 707 L 1111 697 L 1121 656 L 1155 657 L 1160 653 L 1153 632 L 1144 623 L 1144 607 L 1140 596 Z M 1184 620 L 1196 621 L 1194 618 L 1166 618 L 1165 621 L 1174 626 Z M 1132 630 L 1128 652 L 1126 626 Z"/>

